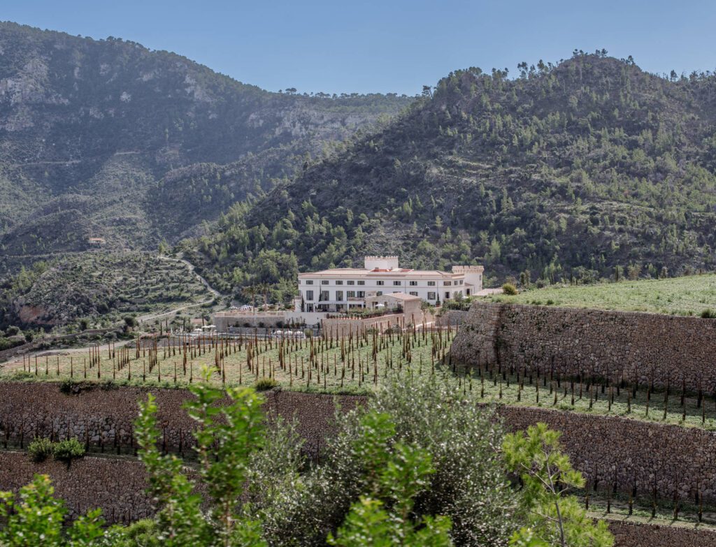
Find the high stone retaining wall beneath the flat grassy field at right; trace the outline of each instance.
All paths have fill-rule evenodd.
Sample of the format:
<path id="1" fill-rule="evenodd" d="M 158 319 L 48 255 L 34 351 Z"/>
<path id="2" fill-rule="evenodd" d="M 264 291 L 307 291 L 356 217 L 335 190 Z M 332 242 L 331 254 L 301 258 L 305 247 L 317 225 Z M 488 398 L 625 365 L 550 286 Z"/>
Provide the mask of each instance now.
<path id="1" fill-rule="evenodd" d="M 716 320 L 475 302 L 453 358 L 716 391 Z"/>

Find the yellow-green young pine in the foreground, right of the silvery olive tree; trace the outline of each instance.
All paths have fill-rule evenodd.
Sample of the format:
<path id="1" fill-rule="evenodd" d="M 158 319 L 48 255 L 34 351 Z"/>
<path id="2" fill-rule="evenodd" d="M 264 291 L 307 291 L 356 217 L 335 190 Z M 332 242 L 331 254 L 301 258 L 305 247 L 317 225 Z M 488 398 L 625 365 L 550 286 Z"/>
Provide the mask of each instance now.
<path id="1" fill-rule="evenodd" d="M 505 461 L 521 478 L 526 518 L 548 545 L 611 547 L 614 538 L 606 523 L 594 524 L 579 501 L 566 495 L 570 488 L 583 488 L 584 477 L 561 452 L 559 436 L 545 423 L 505 436 Z"/>

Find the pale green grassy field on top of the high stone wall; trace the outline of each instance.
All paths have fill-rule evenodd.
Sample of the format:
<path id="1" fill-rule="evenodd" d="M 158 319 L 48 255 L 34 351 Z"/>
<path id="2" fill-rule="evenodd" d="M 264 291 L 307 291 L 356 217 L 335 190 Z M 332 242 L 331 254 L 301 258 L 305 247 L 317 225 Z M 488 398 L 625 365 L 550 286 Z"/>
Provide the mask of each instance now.
<path id="1" fill-rule="evenodd" d="M 490 300 L 513 304 L 700 316 L 704 310 L 716 310 L 716 275 L 690 275 L 663 280 L 621 281 L 596 285 L 554 285 L 543 289 L 523 290 L 516 296 L 494 296 Z"/>

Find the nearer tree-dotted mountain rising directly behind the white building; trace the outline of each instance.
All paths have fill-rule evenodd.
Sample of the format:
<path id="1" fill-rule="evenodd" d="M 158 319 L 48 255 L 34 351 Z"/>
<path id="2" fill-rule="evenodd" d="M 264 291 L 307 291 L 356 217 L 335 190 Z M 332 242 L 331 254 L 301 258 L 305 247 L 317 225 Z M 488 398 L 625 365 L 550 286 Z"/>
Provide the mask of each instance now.
<path id="1" fill-rule="evenodd" d="M 606 51 L 453 72 L 409 109 L 236 205 L 179 250 L 215 286 L 400 255 L 493 282 L 712 270 L 716 76 L 659 77 Z M 271 267 L 277 264 L 278 267 Z"/>

